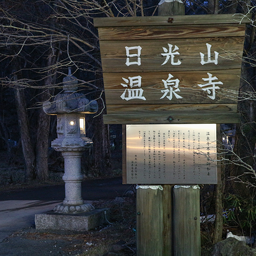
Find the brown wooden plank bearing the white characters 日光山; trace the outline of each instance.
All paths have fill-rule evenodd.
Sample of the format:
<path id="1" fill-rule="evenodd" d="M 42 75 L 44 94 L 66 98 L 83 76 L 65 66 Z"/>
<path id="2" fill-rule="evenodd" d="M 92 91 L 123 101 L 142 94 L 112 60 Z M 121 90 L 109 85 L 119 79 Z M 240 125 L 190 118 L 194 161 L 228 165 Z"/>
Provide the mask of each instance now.
<path id="1" fill-rule="evenodd" d="M 219 53 L 218 65 L 215 63 L 201 64 L 203 53 L 206 61 L 207 44 L 211 45 L 211 59 L 215 59 L 215 51 Z M 163 56 L 163 47 L 169 51 L 168 44 L 175 46 L 179 54 L 175 55 L 174 62 L 180 61 L 180 65 L 172 65 L 171 59 L 163 65 L 166 57 Z M 211 38 L 181 38 L 158 40 L 133 40 L 133 41 L 101 41 L 101 61 L 103 72 L 136 72 L 136 71 L 188 71 L 188 70 L 215 70 L 234 69 L 241 67 L 244 37 L 211 37 Z M 126 63 L 125 47 L 137 47 L 141 49 L 141 65 Z M 136 54 L 137 50 L 131 50 L 130 54 Z M 137 61 L 138 57 L 130 57 L 131 61 Z"/>

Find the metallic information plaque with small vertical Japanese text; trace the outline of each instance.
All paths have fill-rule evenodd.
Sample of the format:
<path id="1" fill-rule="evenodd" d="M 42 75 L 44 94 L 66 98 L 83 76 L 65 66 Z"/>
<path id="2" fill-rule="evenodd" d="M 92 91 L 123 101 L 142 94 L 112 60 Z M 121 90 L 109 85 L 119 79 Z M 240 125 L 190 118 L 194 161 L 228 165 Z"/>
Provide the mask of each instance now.
<path id="1" fill-rule="evenodd" d="M 217 184 L 216 124 L 126 125 L 129 184 Z"/>

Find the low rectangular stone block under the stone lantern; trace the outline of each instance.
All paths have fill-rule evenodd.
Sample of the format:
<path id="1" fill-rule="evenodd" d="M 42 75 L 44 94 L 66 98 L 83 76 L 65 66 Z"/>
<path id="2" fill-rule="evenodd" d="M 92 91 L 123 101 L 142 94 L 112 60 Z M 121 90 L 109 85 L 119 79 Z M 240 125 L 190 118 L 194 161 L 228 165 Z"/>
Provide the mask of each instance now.
<path id="1" fill-rule="evenodd" d="M 105 223 L 105 211 L 108 208 L 95 209 L 81 214 L 58 214 L 53 210 L 35 215 L 36 229 L 88 231 Z"/>

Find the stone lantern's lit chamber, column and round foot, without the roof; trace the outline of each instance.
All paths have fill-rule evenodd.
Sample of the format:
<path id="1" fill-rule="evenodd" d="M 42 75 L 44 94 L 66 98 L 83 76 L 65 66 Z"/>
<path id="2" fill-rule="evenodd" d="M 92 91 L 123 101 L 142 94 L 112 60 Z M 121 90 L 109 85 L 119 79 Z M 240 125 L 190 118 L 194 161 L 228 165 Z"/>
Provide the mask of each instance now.
<path id="1" fill-rule="evenodd" d="M 80 114 L 61 114 L 57 118 L 58 138 L 52 141 L 55 151 L 61 152 L 64 158 L 65 199 L 53 209 L 60 214 L 79 214 L 94 210 L 91 204 L 84 204 L 81 197 L 81 157 L 82 152 L 93 142 L 81 133 Z"/>

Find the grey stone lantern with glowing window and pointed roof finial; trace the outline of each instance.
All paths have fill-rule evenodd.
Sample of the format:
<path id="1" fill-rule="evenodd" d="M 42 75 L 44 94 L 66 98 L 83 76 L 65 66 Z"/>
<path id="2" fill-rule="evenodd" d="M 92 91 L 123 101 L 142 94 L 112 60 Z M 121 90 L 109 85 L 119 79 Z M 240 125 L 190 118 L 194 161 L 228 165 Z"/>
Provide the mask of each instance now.
<path id="1" fill-rule="evenodd" d="M 65 199 L 56 205 L 54 212 L 78 214 L 94 210 L 91 204 L 84 204 L 81 197 L 81 156 L 93 142 L 86 137 L 84 114 L 98 111 L 96 100 L 90 101 L 84 94 L 78 93 L 78 81 L 69 74 L 63 78 L 63 92 L 55 96 L 53 102 L 45 102 L 44 111 L 49 115 L 57 115 L 57 139 L 52 141 L 55 151 L 61 152 L 64 158 Z"/>

